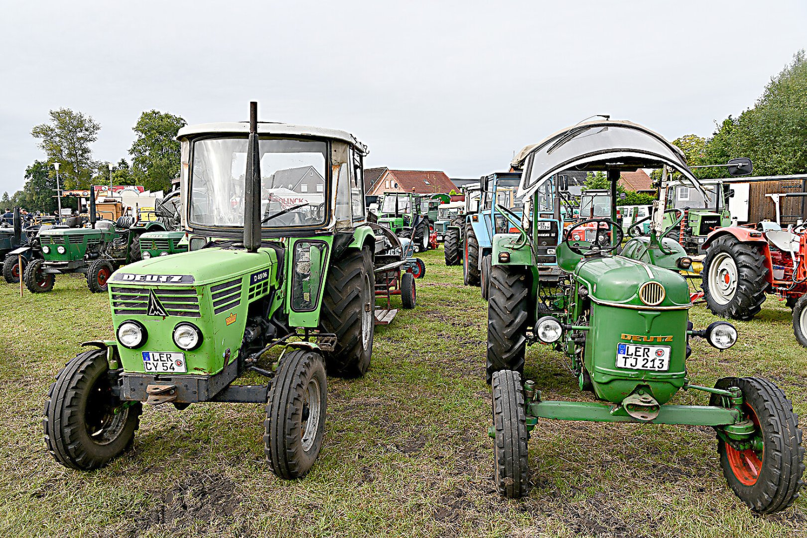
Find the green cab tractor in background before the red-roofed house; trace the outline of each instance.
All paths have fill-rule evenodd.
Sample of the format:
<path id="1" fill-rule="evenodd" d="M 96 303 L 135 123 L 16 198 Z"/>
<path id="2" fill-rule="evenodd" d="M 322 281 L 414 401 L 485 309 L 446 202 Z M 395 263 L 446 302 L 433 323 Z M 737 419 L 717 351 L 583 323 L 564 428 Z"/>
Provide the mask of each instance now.
<path id="1" fill-rule="evenodd" d="M 378 224 L 389 228 L 396 236 L 414 237 L 418 252 L 426 252 L 439 206 L 439 198 L 429 198 L 425 194 L 384 193 L 378 210 Z"/>

